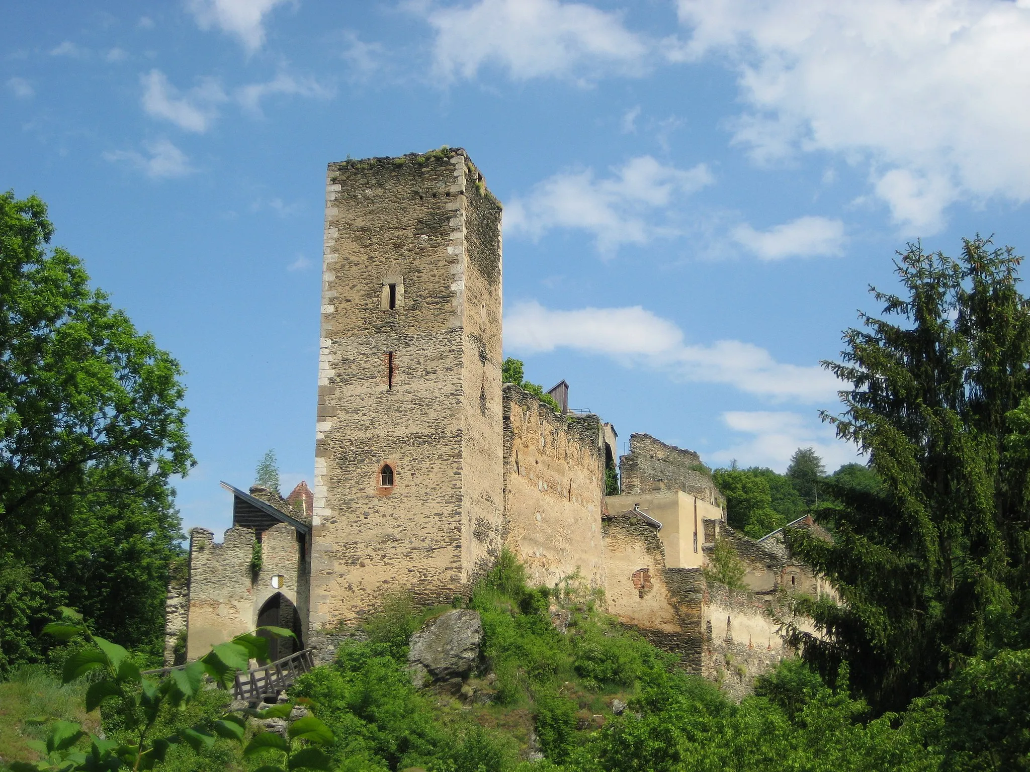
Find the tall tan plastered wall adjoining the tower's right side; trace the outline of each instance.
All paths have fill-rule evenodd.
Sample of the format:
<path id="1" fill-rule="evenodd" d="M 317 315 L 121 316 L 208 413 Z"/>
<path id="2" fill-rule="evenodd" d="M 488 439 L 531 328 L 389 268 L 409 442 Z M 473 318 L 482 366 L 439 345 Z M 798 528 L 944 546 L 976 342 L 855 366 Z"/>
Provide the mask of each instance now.
<path id="1" fill-rule="evenodd" d="M 535 584 L 577 569 L 605 586 L 605 450 L 596 416 L 565 418 L 514 384 L 504 387 L 505 543 Z"/>

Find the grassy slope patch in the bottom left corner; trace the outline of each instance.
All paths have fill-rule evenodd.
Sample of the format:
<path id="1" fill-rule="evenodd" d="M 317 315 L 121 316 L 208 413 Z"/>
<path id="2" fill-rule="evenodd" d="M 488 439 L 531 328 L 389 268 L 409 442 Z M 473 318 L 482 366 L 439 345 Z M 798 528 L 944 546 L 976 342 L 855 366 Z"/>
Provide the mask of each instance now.
<path id="1" fill-rule="evenodd" d="M 41 740 L 55 720 L 77 722 L 89 732 L 100 728 L 100 713 L 83 708 L 87 683 L 63 686 L 42 665 L 25 665 L 0 682 L 0 763 L 34 762 L 39 755 L 26 740 Z"/>

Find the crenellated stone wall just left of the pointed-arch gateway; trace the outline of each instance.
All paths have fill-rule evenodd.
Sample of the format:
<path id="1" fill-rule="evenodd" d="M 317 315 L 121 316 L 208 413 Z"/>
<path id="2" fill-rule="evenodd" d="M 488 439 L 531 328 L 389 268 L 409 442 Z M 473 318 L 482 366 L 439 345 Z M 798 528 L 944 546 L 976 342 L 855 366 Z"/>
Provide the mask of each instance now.
<path id="1" fill-rule="evenodd" d="M 219 545 L 204 528 L 190 532 L 190 637 L 186 659 L 253 629 L 250 561 L 254 532 L 230 528 Z"/>

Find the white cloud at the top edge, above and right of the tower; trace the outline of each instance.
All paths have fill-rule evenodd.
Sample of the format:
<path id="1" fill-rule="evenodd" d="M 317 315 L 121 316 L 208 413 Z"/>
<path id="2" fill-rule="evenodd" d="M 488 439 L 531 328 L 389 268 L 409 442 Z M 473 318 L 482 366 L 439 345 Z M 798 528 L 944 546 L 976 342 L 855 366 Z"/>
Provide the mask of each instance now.
<path id="1" fill-rule="evenodd" d="M 640 72 L 648 43 L 618 13 L 558 0 L 478 0 L 432 9 L 438 74 L 471 78 L 485 65 L 516 80 Z"/>

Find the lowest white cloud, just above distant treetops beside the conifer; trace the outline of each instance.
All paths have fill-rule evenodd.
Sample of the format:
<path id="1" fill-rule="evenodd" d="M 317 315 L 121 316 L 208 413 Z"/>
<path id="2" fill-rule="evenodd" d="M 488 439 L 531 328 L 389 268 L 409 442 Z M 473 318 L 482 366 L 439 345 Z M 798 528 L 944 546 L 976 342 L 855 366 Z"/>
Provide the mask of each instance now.
<path id="1" fill-rule="evenodd" d="M 854 446 L 837 440 L 832 427 L 821 423 L 816 416 L 730 411 L 722 414 L 722 420 L 733 431 L 751 434 L 751 437 L 713 453 L 712 460 L 718 463 L 728 464 L 735 459 L 741 466 L 768 466 L 783 472 L 794 451 L 809 447 L 823 459 L 827 471 L 862 460 Z"/>

